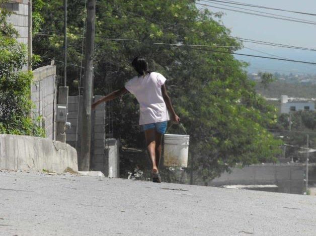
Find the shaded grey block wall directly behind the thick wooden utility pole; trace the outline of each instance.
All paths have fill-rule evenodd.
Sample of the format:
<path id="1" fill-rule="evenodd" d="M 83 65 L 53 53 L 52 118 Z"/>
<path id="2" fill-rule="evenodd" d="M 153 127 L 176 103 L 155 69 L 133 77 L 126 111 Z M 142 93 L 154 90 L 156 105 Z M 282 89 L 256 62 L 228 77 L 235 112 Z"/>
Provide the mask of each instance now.
<path id="1" fill-rule="evenodd" d="M 101 96 L 95 96 L 94 100 L 100 99 Z M 83 104 L 82 96 L 80 104 Z M 71 129 L 66 131 L 66 143 L 77 148 L 77 153 L 80 155 L 80 127 L 78 122 L 81 121 L 81 111 L 78 113 L 78 96 L 68 97 L 68 116 L 67 122 L 71 123 Z M 92 144 L 91 144 L 91 170 L 102 171 L 105 176 L 108 176 L 108 157 L 105 153 L 105 103 L 97 106 L 96 110 L 92 111 Z M 77 130 L 78 129 L 78 130 Z M 76 145 L 77 144 L 77 145 Z"/>

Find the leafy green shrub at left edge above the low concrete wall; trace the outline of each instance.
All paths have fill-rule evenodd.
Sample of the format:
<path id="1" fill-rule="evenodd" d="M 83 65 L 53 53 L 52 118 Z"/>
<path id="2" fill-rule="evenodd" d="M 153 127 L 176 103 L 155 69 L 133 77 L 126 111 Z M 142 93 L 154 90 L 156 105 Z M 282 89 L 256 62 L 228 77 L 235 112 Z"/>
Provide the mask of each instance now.
<path id="1" fill-rule="evenodd" d="M 10 12 L 0 1 L 0 134 L 43 136 L 30 112 L 32 72 L 23 72 L 26 46 L 17 42 L 17 31 L 7 22 Z"/>

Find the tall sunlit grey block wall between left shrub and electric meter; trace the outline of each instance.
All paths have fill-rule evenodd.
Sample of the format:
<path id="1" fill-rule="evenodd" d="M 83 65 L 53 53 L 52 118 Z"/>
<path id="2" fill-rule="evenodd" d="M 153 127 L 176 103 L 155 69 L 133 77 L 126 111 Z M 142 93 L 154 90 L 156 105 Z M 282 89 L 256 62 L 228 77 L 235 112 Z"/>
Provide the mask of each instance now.
<path id="1" fill-rule="evenodd" d="M 42 116 L 40 124 L 46 137 L 55 140 L 56 134 L 56 66 L 44 66 L 33 70 L 34 80 L 31 99 L 35 105 L 33 113 Z"/>

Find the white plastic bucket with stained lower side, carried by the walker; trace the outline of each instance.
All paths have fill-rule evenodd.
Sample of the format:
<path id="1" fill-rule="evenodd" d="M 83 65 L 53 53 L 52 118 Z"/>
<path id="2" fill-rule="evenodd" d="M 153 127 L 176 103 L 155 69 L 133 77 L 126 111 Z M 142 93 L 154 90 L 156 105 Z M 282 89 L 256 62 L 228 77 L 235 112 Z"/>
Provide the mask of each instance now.
<path id="1" fill-rule="evenodd" d="M 164 166 L 188 167 L 189 135 L 164 135 Z"/>

